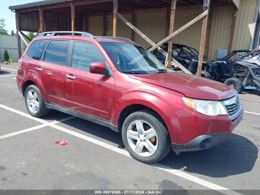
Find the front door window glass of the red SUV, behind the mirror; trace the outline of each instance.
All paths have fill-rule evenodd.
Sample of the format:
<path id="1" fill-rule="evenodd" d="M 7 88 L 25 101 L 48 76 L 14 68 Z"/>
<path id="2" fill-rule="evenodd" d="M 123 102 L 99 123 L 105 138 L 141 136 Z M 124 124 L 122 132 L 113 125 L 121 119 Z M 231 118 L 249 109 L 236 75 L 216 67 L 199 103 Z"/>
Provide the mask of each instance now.
<path id="1" fill-rule="evenodd" d="M 75 41 L 72 52 L 71 67 L 89 71 L 92 62 L 104 62 L 105 60 L 98 49 L 86 42 Z"/>

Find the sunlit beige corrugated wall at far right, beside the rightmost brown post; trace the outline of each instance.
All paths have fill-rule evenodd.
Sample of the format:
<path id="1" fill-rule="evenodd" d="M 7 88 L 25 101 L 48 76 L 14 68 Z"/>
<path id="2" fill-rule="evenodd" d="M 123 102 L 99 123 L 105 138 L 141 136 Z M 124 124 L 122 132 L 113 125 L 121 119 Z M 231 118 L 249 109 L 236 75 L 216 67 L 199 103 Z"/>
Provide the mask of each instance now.
<path id="1" fill-rule="evenodd" d="M 250 30 L 252 29 L 255 6 L 256 0 L 241 0 L 232 50 L 249 48 L 250 37 L 253 36 Z M 253 37 L 252 40 L 254 40 Z"/>

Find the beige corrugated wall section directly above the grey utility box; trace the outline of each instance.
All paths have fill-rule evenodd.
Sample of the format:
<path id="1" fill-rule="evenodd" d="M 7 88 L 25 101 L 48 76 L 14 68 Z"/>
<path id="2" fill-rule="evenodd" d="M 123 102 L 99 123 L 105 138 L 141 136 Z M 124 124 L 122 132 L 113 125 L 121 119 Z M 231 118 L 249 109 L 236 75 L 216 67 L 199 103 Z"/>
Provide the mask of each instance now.
<path id="1" fill-rule="evenodd" d="M 228 49 L 234 6 L 214 7 L 210 35 L 210 60 L 217 60 L 218 49 Z"/>

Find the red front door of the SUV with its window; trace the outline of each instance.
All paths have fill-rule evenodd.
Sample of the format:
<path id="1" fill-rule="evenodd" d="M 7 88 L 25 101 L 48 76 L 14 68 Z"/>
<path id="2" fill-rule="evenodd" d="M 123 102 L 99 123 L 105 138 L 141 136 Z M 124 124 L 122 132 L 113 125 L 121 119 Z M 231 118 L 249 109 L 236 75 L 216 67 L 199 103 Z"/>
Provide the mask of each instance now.
<path id="1" fill-rule="evenodd" d="M 74 41 L 71 67 L 65 75 L 66 106 L 69 110 L 110 121 L 114 108 L 113 72 L 99 49 L 85 41 Z M 111 76 L 89 72 L 92 62 L 104 62 Z"/>

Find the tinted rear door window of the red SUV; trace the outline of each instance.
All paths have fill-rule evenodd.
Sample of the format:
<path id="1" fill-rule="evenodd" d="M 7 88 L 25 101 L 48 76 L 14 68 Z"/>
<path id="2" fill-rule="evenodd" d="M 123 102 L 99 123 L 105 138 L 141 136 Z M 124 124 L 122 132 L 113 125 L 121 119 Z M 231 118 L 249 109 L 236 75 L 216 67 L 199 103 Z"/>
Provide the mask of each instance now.
<path id="1" fill-rule="evenodd" d="M 70 41 L 53 40 L 50 41 L 44 55 L 44 61 L 59 65 L 66 65 L 66 57 Z"/>

